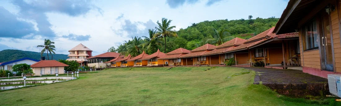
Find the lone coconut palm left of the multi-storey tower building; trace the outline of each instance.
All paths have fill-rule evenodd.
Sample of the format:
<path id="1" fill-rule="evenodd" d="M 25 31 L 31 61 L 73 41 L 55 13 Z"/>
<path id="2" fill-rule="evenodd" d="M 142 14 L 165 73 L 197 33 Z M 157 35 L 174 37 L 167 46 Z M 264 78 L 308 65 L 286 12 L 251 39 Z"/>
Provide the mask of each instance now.
<path id="1" fill-rule="evenodd" d="M 42 47 L 43 50 L 41 51 L 41 56 L 43 57 L 43 53 L 46 51 L 46 54 L 47 54 L 47 60 L 50 60 L 49 57 L 48 57 L 48 52 L 50 52 L 50 55 L 52 56 L 52 53 L 55 54 L 54 50 L 56 50 L 56 46 L 55 45 L 52 45 L 52 44 L 55 44 L 55 42 L 52 42 L 51 40 L 49 39 L 45 39 L 44 41 L 44 45 L 38 45 L 37 47 Z M 51 58 L 52 60 L 52 58 Z"/>

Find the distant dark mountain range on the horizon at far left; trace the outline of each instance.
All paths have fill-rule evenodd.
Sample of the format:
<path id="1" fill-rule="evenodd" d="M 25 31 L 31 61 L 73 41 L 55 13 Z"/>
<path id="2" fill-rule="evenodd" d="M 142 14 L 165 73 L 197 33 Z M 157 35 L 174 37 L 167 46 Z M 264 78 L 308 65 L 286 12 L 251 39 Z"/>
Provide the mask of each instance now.
<path id="1" fill-rule="evenodd" d="M 46 53 L 43 54 L 45 56 L 45 59 L 47 60 Z M 51 59 L 51 56 L 48 55 Z M 32 58 L 36 60 L 40 60 L 40 52 L 34 52 L 34 51 L 23 51 L 23 50 L 13 50 L 13 49 L 6 49 L 0 51 L 0 62 L 8 62 L 12 60 L 17 60 L 21 58 Z M 66 60 L 68 58 L 68 55 L 64 54 L 53 54 L 53 60 Z"/>

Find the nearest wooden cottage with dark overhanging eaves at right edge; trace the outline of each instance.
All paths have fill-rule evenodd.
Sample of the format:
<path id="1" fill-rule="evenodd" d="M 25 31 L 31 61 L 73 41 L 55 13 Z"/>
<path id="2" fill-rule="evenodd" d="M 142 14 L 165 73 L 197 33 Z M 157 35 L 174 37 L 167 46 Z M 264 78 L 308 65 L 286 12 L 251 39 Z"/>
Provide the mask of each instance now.
<path id="1" fill-rule="evenodd" d="M 327 78 L 341 73 L 341 1 L 290 0 L 273 30 L 298 33 L 303 72 Z"/>

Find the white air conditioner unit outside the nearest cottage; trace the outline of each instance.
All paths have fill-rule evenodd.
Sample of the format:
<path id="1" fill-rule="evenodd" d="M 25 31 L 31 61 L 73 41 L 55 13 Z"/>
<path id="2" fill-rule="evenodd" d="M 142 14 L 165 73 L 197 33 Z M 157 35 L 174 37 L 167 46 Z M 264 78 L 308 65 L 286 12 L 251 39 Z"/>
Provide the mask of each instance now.
<path id="1" fill-rule="evenodd" d="M 329 92 L 341 98 L 341 74 L 328 75 Z"/>

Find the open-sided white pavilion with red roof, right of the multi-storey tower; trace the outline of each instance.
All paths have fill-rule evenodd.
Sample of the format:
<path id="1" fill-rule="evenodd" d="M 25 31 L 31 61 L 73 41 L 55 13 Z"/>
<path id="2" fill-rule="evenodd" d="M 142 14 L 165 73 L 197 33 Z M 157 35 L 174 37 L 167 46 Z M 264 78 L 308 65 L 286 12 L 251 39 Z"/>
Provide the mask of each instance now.
<path id="1" fill-rule="evenodd" d="M 110 66 L 111 65 L 110 63 L 104 63 L 104 62 L 113 60 L 117 57 L 122 57 L 120 55 L 121 54 L 117 52 L 105 52 L 103 54 L 87 58 L 89 61 L 88 66 L 89 67 L 96 66 L 97 68 Z"/>

